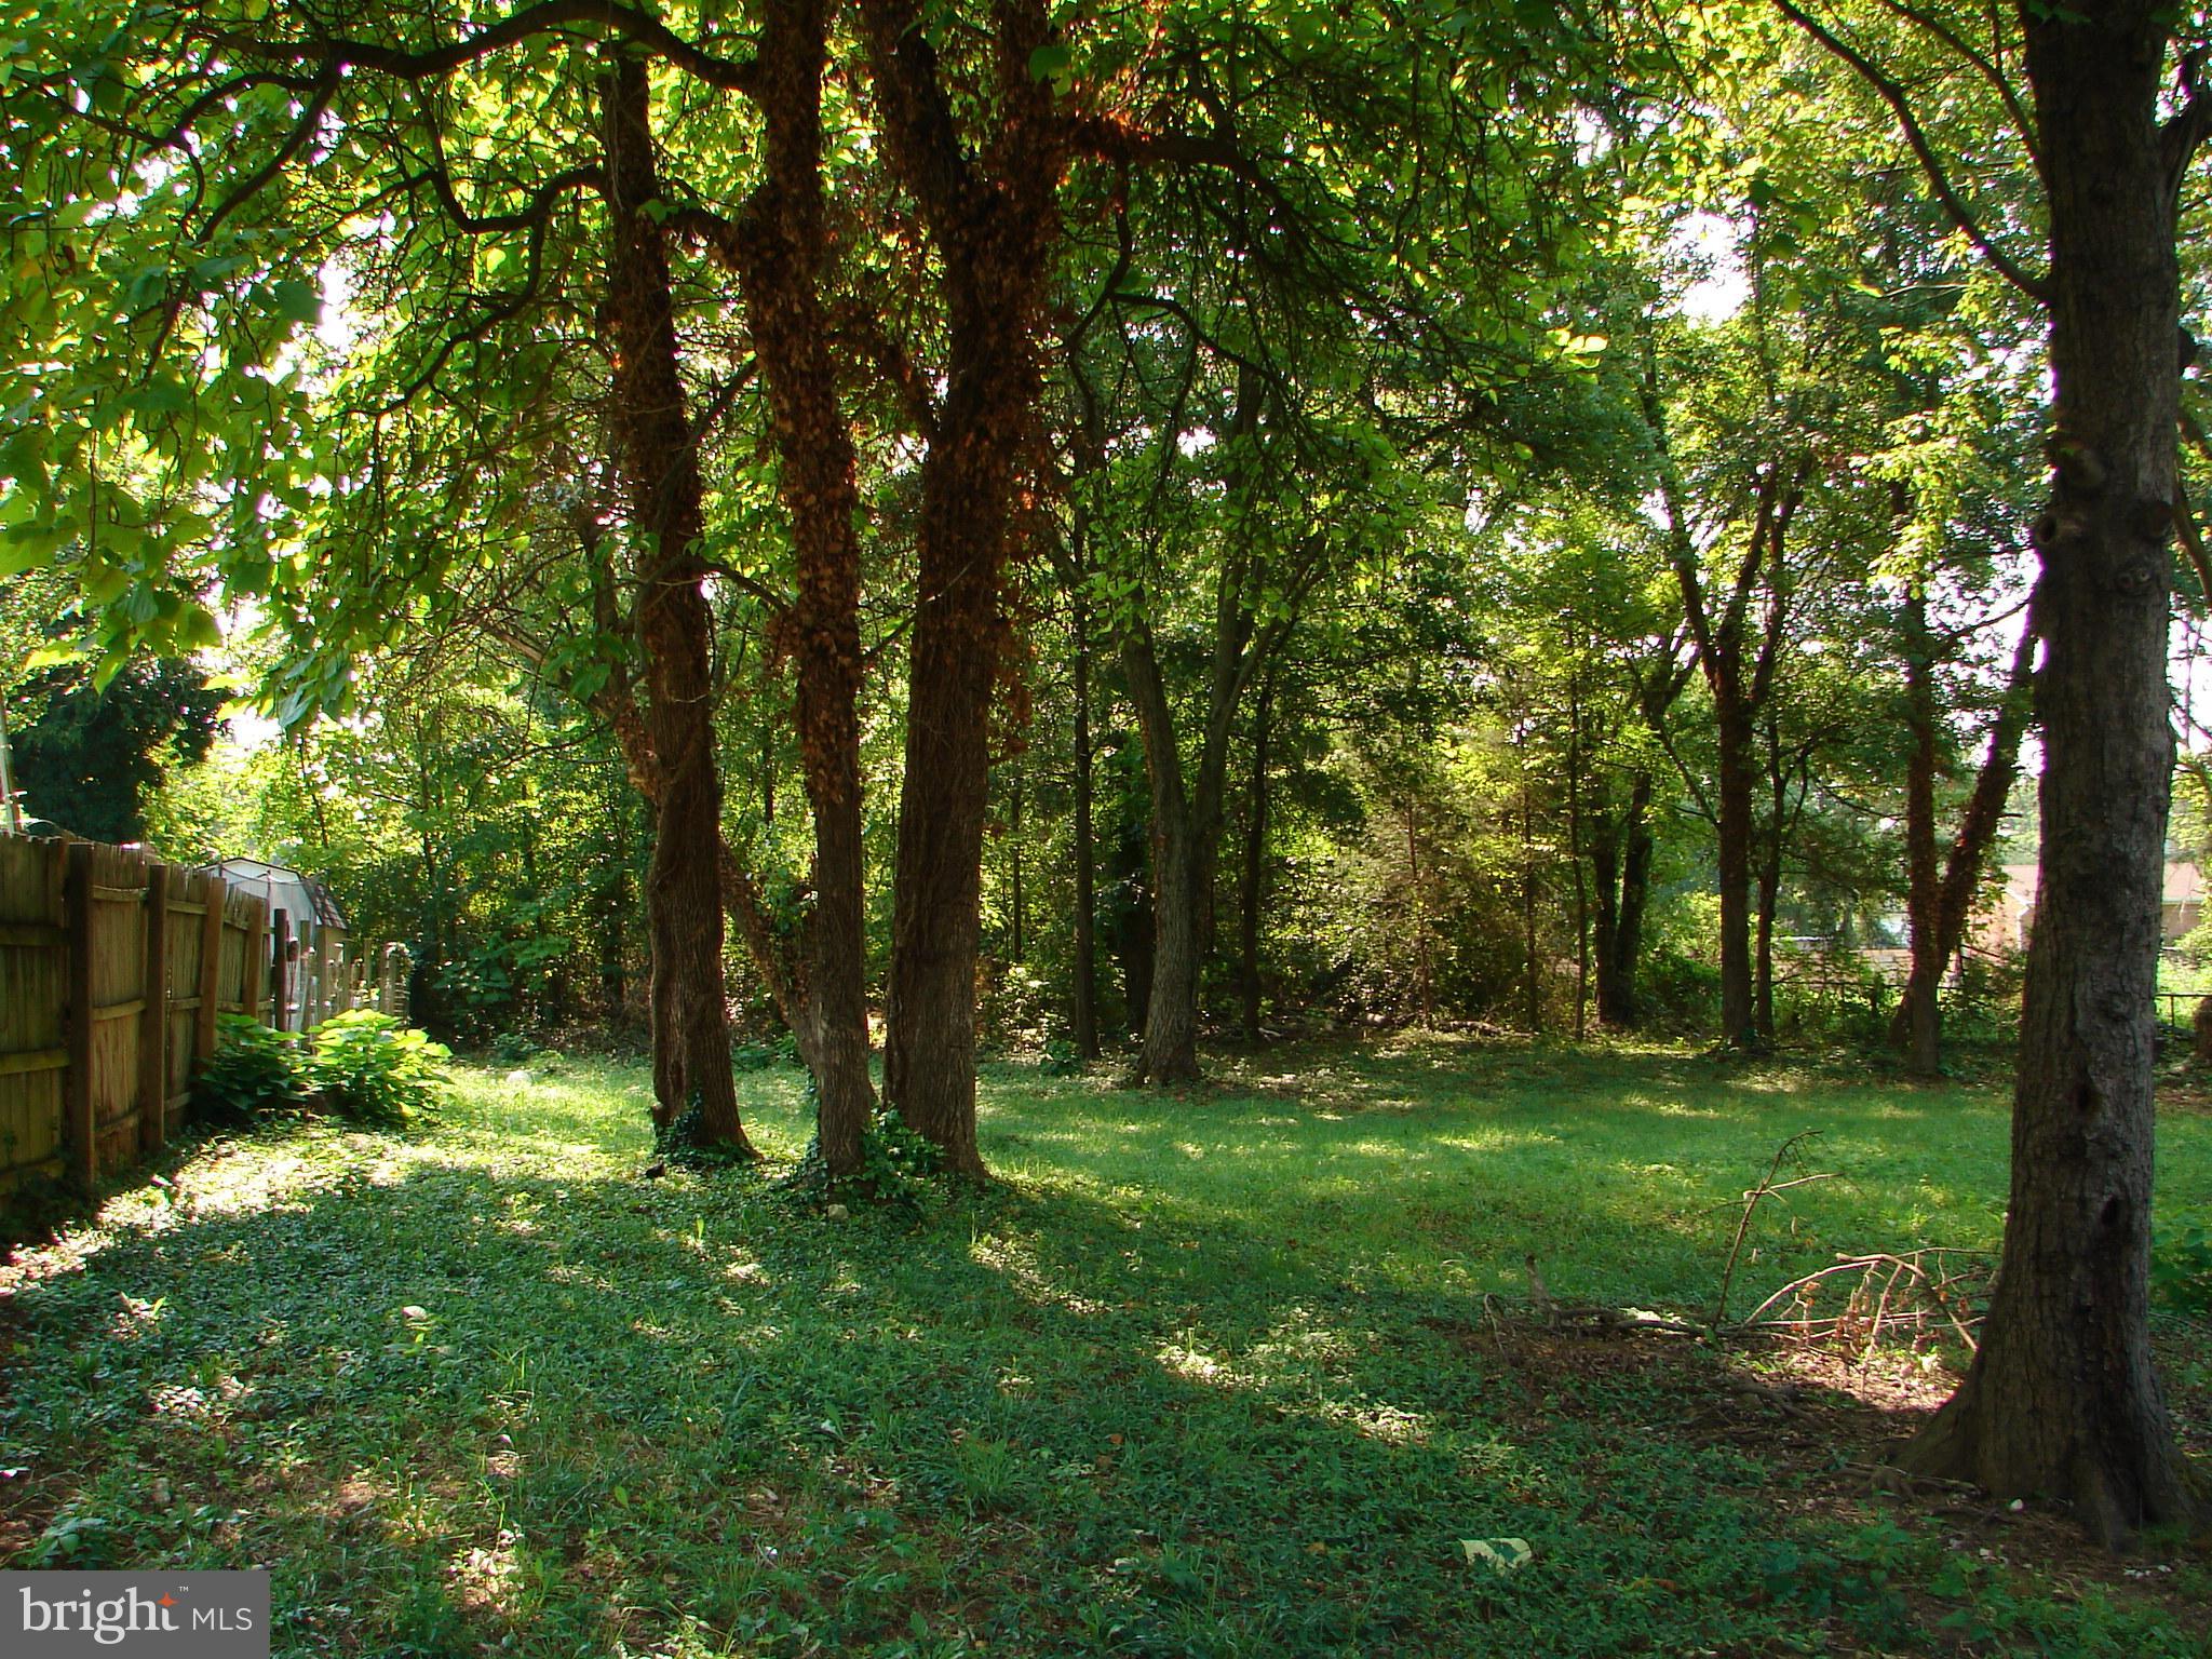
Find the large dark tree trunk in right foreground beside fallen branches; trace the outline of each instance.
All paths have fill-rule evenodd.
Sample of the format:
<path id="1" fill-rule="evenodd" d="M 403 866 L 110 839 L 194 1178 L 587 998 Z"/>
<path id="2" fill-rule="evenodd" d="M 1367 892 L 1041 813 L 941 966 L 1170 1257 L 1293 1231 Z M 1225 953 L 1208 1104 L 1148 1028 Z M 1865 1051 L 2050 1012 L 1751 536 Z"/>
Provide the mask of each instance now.
<path id="1" fill-rule="evenodd" d="M 2035 526 L 2042 898 L 1997 1290 L 1920 1471 L 2073 1502 L 2095 1537 L 2192 1522 L 2150 1358 L 2152 1042 L 2174 741 L 2168 549 L 2179 420 L 2166 7 L 2022 7 L 2051 204 L 2055 478 Z M 2201 97 L 2201 93 L 2199 93 Z"/>

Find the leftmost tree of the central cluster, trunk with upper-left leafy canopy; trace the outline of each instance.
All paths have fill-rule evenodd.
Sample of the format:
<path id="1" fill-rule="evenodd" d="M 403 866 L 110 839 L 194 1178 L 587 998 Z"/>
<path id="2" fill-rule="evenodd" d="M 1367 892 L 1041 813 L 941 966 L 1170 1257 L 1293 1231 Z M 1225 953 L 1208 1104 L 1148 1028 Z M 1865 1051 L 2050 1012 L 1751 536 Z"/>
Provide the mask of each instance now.
<path id="1" fill-rule="evenodd" d="M 549 356 L 495 367 L 487 343 L 599 303 L 611 460 L 644 591 L 646 726 L 666 776 L 648 880 L 655 1110 L 672 1121 L 697 1106 L 708 1139 L 745 1150 L 721 1000 L 706 520 L 646 64 L 723 91 L 750 73 L 644 11 L 562 0 L 398 38 L 383 9 L 82 7 L 64 22 L 7 104 L 20 177 L 55 204 L 29 208 L 55 281 L 29 319 L 38 345 L 9 363 L 44 407 L 11 429 L 9 458 L 46 484 L 15 526 L 29 546 L 64 551 L 95 593 L 124 551 L 133 582 L 106 606 L 115 648 L 161 644 L 144 619 L 164 604 L 179 615 L 168 633 L 190 630 L 212 580 L 296 604 L 319 573 L 294 553 L 349 493 L 347 436 L 367 427 L 374 447 L 380 420 L 449 372 L 469 376 L 478 411 L 526 409 Z M 595 239 L 577 234 L 580 199 L 604 210 Z M 597 259 L 582 257 L 591 241 Z M 445 301 L 420 336 L 365 356 L 387 378 L 349 398 L 301 374 L 332 265 L 369 292 Z M 58 438 L 71 418 L 113 427 L 102 407 L 131 425 Z M 119 467 L 144 484 L 113 489 Z M 383 602 L 354 615 L 405 615 L 440 575 L 436 560 L 380 568 Z M 288 719 L 345 695 L 358 637 L 323 611 L 325 648 L 294 677 Z"/>

